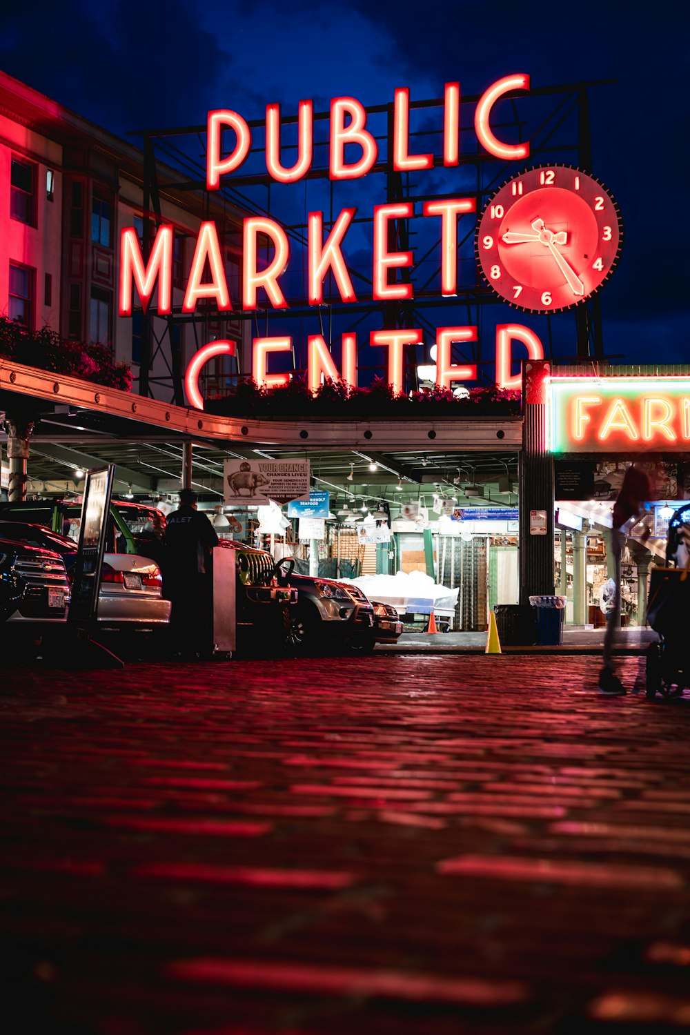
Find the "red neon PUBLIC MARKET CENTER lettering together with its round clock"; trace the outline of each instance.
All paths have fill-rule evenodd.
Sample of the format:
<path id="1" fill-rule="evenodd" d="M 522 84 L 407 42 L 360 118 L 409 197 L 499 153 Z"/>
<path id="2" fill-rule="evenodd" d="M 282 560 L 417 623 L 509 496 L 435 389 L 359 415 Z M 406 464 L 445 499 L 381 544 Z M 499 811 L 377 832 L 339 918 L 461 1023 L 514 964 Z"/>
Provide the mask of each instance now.
<path id="1" fill-rule="evenodd" d="M 492 83 L 477 102 L 474 132 L 480 152 L 510 162 L 527 161 L 530 142 L 511 143 L 502 139 L 494 106 L 507 95 L 530 91 L 530 77 L 506 76 Z M 265 156 L 268 176 L 278 183 L 298 183 L 308 176 L 313 157 L 313 103 L 301 100 L 297 113 L 297 148 L 281 143 L 280 107 L 266 108 Z M 410 91 L 394 91 L 391 131 L 385 168 L 415 176 L 434 166 L 452 168 L 460 164 L 460 85 L 446 83 L 443 97 L 442 153 L 415 153 L 410 134 Z M 223 179 L 241 168 L 252 152 L 251 130 L 238 112 L 220 109 L 208 113 L 206 186 L 218 190 Z M 290 155 L 293 164 L 283 159 Z M 354 97 L 334 97 L 330 103 L 328 173 L 333 181 L 361 179 L 382 161 L 379 144 L 367 128 L 367 113 Z M 232 181 L 231 181 L 232 182 Z M 409 277 L 398 275 L 415 265 L 412 250 L 397 250 L 397 225 L 400 220 L 432 220 L 440 237 L 439 275 L 436 290 L 442 297 L 457 294 L 458 221 L 476 212 L 476 197 L 444 197 L 426 200 L 415 207 L 412 201 L 374 205 L 371 231 L 371 295 L 378 302 L 406 301 L 414 297 Z M 312 306 L 324 304 L 324 282 L 330 275 L 339 302 L 358 301 L 348 265 L 348 234 L 356 220 L 357 208 L 343 208 L 325 219 L 323 211 L 307 216 L 306 273 L 307 300 Z M 360 214 L 357 221 L 362 221 Z M 414 229 L 410 229 L 411 236 Z M 475 238 L 477 265 L 486 285 L 516 309 L 551 314 L 586 301 L 608 278 L 622 245 L 622 224 L 618 205 L 598 180 L 584 172 L 565 166 L 527 169 L 505 183 L 484 211 L 478 214 Z M 357 247 L 352 245 L 353 250 Z M 260 253 L 263 258 L 260 258 Z M 268 259 L 265 255 L 268 254 Z M 156 293 L 156 313 L 172 312 L 174 228 L 158 226 L 150 254 L 142 255 L 137 231 L 122 231 L 119 312 L 130 316 L 134 292 L 146 310 Z M 202 221 L 187 278 L 182 312 L 194 313 L 200 302 L 211 301 L 220 313 L 256 312 L 267 305 L 288 310 L 281 279 L 291 263 L 301 269 L 301 253 L 291 255 L 286 230 L 265 215 L 248 215 L 242 229 L 241 297 L 231 297 L 226 275 L 218 230 L 213 219 Z M 367 299 L 368 300 L 368 295 Z M 329 299 L 332 301 L 332 299 Z M 436 330 L 436 383 L 450 388 L 462 381 L 474 381 L 477 367 L 454 363 L 452 347 L 475 342 L 477 328 L 472 325 L 439 327 Z M 371 331 L 368 345 L 385 350 L 388 382 L 395 393 L 403 389 L 406 346 L 423 342 L 421 328 L 406 327 Z M 512 376 L 512 349 L 518 343 L 531 359 L 543 359 L 541 341 L 519 323 L 500 324 L 496 332 L 496 382 L 501 388 L 520 388 L 520 377 Z M 322 334 L 307 338 L 307 383 L 312 391 L 324 378 L 341 379 L 357 385 L 357 351 L 364 343 L 354 332 L 344 333 L 335 353 Z M 262 386 L 286 385 L 290 373 L 271 372 L 275 353 L 292 350 L 290 335 L 256 337 L 252 343 L 252 377 Z M 231 341 L 211 342 L 192 357 L 185 386 L 192 406 L 203 408 L 199 375 L 206 362 L 216 356 L 234 354 Z M 339 359 L 339 367 L 337 360 Z"/>

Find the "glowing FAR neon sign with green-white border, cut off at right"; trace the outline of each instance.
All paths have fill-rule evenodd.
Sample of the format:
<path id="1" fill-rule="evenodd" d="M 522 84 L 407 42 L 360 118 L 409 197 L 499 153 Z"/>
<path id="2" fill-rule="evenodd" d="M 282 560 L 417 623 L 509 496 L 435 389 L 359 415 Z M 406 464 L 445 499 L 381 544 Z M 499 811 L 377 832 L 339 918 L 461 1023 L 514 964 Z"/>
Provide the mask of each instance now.
<path id="1" fill-rule="evenodd" d="M 551 452 L 685 451 L 687 378 L 553 378 Z"/>

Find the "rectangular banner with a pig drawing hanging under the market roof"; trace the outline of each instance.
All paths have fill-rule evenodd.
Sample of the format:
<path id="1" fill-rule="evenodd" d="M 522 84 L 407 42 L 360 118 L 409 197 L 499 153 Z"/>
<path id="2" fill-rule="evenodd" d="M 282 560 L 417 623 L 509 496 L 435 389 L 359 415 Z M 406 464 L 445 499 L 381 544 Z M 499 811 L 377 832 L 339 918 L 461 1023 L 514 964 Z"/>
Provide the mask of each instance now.
<path id="1" fill-rule="evenodd" d="M 265 506 L 309 498 L 308 460 L 227 460 L 222 484 L 224 502 L 235 506 Z"/>

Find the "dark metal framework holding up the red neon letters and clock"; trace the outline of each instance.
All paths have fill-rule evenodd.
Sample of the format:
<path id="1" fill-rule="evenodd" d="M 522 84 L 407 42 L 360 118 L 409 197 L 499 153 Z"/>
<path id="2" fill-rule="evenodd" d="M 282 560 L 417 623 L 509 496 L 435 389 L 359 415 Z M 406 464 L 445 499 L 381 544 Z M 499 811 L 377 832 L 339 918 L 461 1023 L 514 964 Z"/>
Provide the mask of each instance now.
<path id="1" fill-rule="evenodd" d="M 477 218 L 487 199 L 498 189 L 501 183 L 522 169 L 544 160 L 552 161 L 554 157 L 558 160 L 577 165 L 579 168 L 586 170 L 592 168 L 588 91 L 591 87 L 605 85 L 608 82 L 610 81 L 533 88 L 526 96 L 514 97 L 504 101 L 502 111 L 505 115 L 509 107 L 511 117 L 503 123 L 501 127 L 502 131 L 507 131 L 508 135 L 512 134 L 519 141 L 523 140 L 527 126 L 527 120 L 523 117 L 526 107 L 532 106 L 533 110 L 539 108 L 540 118 L 536 128 L 530 134 L 531 155 L 527 162 L 506 162 L 487 153 L 480 152 L 479 144 L 474 138 L 472 138 L 474 145 L 472 150 L 468 150 L 467 145 L 466 149 L 461 150 L 458 169 L 463 182 L 461 193 L 464 197 L 475 198 Z M 477 95 L 461 98 L 460 124 L 462 128 L 472 124 L 472 113 L 478 99 Z M 443 100 L 441 99 L 411 102 L 411 109 L 417 110 L 419 113 L 416 118 L 421 118 L 422 120 L 422 128 L 413 131 L 411 138 L 414 140 L 415 138 L 424 137 L 426 140 L 429 140 L 429 138 L 436 135 L 437 143 L 433 146 L 433 151 L 437 155 L 440 151 L 438 141 L 441 139 L 441 131 L 430 129 L 427 124 L 423 123 L 424 120 L 428 121 L 429 118 L 433 117 L 434 109 L 441 109 L 442 106 Z M 366 113 L 367 119 L 371 123 L 371 131 L 380 145 L 381 151 L 382 144 L 390 144 L 393 103 L 367 108 Z M 330 113 L 328 112 L 314 114 L 314 132 L 319 125 L 322 124 L 323 126 L 329 117 Z M 441 121 L 443 122 L 443 119 Z M 283 126 L 290 127 L 296 122 L 296 116 L 286 116 L 280 120 L 281 129 Z M 263 120 L 250 121 L 248 124 L 254 138 L 264 126 Z M 374 130 L 374 125 L 378 127 L 378 131 Z M 184 176 L 188 177 L 187 182 L 182 184 L 182 189 L 203 193 L 205 211 L 208 212 L 212 204 L 214 209 L 217 209 L 218 205 L 223 206 L 223 211 L 227 212 L 227 215 L 221 220 L 218 220 L 216 216 L 218 236 L 221 244 L 237 248 L 237 211 L 239 209 L 247 214 L 267 215 L 281 223 L 291 240 L 291 245 L 294 245 L 296 253 L 299 254 L 300 249 L 303 249 L 306 244 L 306 221 L 298 219 L 297 221 L 290 220 L 286 224 L 280 218 L 280 212 L 277 211 L 280 208 L 280 204 L 279 200 L 276 199 L 276 195 L 279 194 L 280 189 L 284 190 L 284 188 L 280 188 L 280 185 L 275 184 L 268 173 L 265 171 L 249 171 L 232 175 L 227 178 L 218 191 L 210 194 L 207 190 L 205 177 L 205 135 L 206 125 L 146 129 L 138 134 L 132 134 L 132 136 L 144 138 L 145 257 L 148 258 L 156 229 L 162 221 L 157 179 L 157 161 L 159 159 L 164 159 L 168 166 L 174 166 Z M 461 140 L 467 141 L 470 138 L 470 132 L 461 136 Z M 323 141 L 317 143 L 323 143 Z M 419 143 L 419 140 L 417 143 Z M 201 157 L 197 146 L 201 149 Z M 428 145 L 425 145 L 425 147 L 428 149 Z M 192 149 L 196 153 L 192 153 Z M 291 145 L 286 144 L 283 149 L 289 151 Z M 263 154 L 263 151 L 264 149 L 261 146 L 252 149 L 254 160 Z M 314 149 L 314 154 L 317 152 L 318 146 Z M 390 148 L 388 153 L 390 153 Z M 421 205 L 424 201 L 438 200 L 440 197 L 438 193 L 424 194 L 420 191 L 418 185 L 412 182 L 409 173 L 394 172 L 386 161 L 380 160 L 376 165 L 369 177 L 367 177 L 367 181 L 370 182 L 374 178 L 380 177 L 384 177 L 385 179 L 385 193 L 383 196 L 377 197 L 378 204 L 404 201 Z M 327 162 L 318 165 L 314 160 L 314 166 L 310 172 L 303 181 L 300 181 L 304 189 L 304 213 L 306 215 L 306 212 L 311 207 L 316 207 L 308 203 L 310 191 L 321 191 L 321 201 L 317 205 L 322 208 L 325 207 L 323 205 L 323 181 L 326 181 L 328 184 L 329 211 L 328 215 L 325 213 L 325 221 L 330 220 L 330 226 L 332 226 L 338 210 L 336 191 L 341 189 L 341 184 L 328 180 Z M 298 184 L 292 184 L 288 189 L 294 190 L 297 186 Z M 361 185 L 360 189 L 362 189 Z M 458 188 L 455 187 L 454 189 L 457 194 Z M 226 208 L 226 206 L 228 207 Z M 458 254 L 461 254 L 463 248 L 472 248 L 474 256 L 475 225 L 467 216 L 463 218 L 466 221 L 461 223 L 458 229 Z M 370 224 L 372 217 L 363 214 L 355 221 Z M 414 233 L 411 230 L 410 221 L 409 219 L 391 220 L 389 227 L 391 235 L 389 244 L 391 249 L 410 250 L 411 234 Z M 431 247 L 427 248 L 422 259 L 434 261 L 433 257 L 440 255 L 440 245 L 441 238 L 439 234 L 439 237 L 433 241 Z M 169 371 L 169 375 L 163 378 L 156 378 L 155 380 L 157 383 L 161 381 L 168 383 L 172 389 L 171 401 L 178 405 L 183 405 L 183 372 L 180 348 L 181 325 L 191 324 L 196 344 L 199 348 L 209 341 L 211 336 L 236 336 L 240 339 L 242 334 L 239 328 L 247 320 L 253 324 L 256 336 L 270 336 L 272 333 L 276 333 L 273 328 L 278 326 L 278 324 L 284 328 L 286 321 L 299 320 L 301 322 L 300 333 L 304 336 L 304 341 L 306 341 L 307 333 L 318 333 L 322 334 L 330 345 L 337 341 L 340 333 L 338 325 L 343 320 L 348 321 L 348 330 L 356 330 L 369 320 L 377 323 L 380 321 L 380 326 L 388 329 L 420 327 L 425 333 L 433 335 L 436 328 L 428 319 L 430 310 L 433 308 L 447 310 L 448 307 L 453 306 L 462 313 L 460 319 L 463 322 L 473 326 L 479 326 L 482 322 L 484 307 L 487 304 L 492 305 L 498 303 L 505 305 L 490 288 L 480 283 L 476 266 L 474 269 L 474 283 L 463 286 L 458 284 L 455 297 L 443 297 L 439 287 L 440 262 L 436 266 L 434 274 L 426 276 L 424 283 L 415 285 L 415 297 L 412 300 L 374 301 L 370 297 L 368 299 L 362 297 L 358 302 L 343 303 L 337 293 L 334 295 L 334 286 L 332 284 L 329 285 L 327 282 L 325 288 L 328 289 L 330 287 L 331 290 L 330 293 L 328 290 L 325 290 L 325 303 L 323 305 L 309 305 L 306 298 L 301 297 L 291 299 L 290 308 L 288 309 L 275 310 L 266 304 L 259 310 L 234 310 L 232 316 L 230 316 L 230 321 L 235 323 L 234 335 L 226 332 L 218 333 L 216 328 L 222 327 L 222 322 L 229 321 L 229 314 L 219 312 L 209 304 L 205 305 L 203 310 L 193 314 L 183 314 L 180 306 L 174 306 L 173 313 L 170 316 L 161 318 L 166 320 L 164 332 L 156 335 L 153 318 L 157 314 L 155 308 L 150 307 L 143 315 L 140 393 L 142 395 L 151 394 L 152 364 L 154 359 L 160 355 Z M 399 272 L 402 283 L 410 280 L 410 269 L 401 269 Z M 360 286 L 363 285 L 364 291 L 370 293 L 371 279 L 363 275 L 361 271 L 355 270 L 353 273 L 354 276 L 357 276 L 358 284 Z M 448 320 L 447 317 L 444 319 L 447 323 L 458 322 L 457 317 L 453 320 Z M 603 358 L 601 308 L 598 296 L 595 295 L 567 314 L 546 316 L 546 335 L 545 341 L 544 338 L 542 341 L 544 342 L 546 355 L 550 359 L 557 358 L 553 355 L 553 319 L 560 321 L 564 319 L 574 320 L 574 333 L 569 341 L 575 343 L 575 356 L 570 355 L 567 357 L 568 359 Z M 364 337 L 362 338 L 362 344 L 360 344 L 358 350 L 360 353 L 363 349 L 368 348 L 367 341 L 368 334 L 366 335 L 366 341 Z M 406 347 L 406 387 L 417 387 L 417 363 L 424 361 L 423 357 L 420 360 L 417 355 L 417 346 Z M 482 365 L 486 365 L 492 360 L 482 354 L 481 334 L 479 335 L 479 341 L 476 343 L 463 344 L 461 347 L 454 346 L 454 353 L 456 356 L 455 361 L 476 363 L 480 372 L 480 379 L 485 380 L 482 374 Z M 238 375 L 240 374 L 240 362 L 241 357 L 238 357 Z M 299 356 L 293 348 L 293 371 L 298 371 L 303 365 L 305 364 L 300 363 Z"/>

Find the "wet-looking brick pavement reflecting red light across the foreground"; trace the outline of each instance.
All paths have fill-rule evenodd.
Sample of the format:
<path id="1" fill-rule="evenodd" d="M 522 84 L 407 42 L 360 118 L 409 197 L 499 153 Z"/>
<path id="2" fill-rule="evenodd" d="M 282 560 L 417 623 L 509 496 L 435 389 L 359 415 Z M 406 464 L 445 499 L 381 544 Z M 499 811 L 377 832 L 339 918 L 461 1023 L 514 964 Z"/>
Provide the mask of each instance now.
<path id="1" fill-rule="evenodd" d="M 4 1030 L 690 1025 L 690 700 L 602 700 L 596 673 L 5 670 Z"/>

